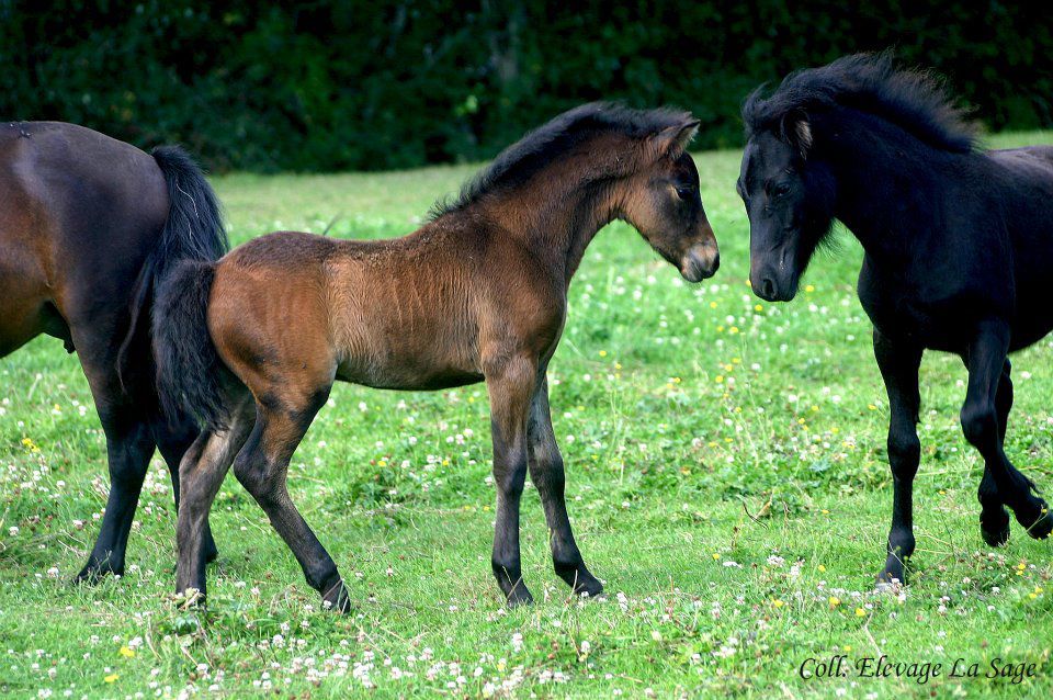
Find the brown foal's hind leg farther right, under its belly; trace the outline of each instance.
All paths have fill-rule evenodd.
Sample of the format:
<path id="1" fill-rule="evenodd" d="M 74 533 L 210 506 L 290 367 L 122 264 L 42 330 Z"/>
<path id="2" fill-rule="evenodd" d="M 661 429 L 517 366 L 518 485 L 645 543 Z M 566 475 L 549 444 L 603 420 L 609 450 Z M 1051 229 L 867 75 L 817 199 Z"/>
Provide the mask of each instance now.
<path id="1" fill-rule="evenodd" d="M 293 551 L 307 584 L 326 603 L 348 612 L 351 601 L 337 565 L 299 515 L 286 487 L 288 461 L 328 395 L 326 386 L 301 406 L 258 405 L 256 428 L 234 462 L 234 474 Z"/>

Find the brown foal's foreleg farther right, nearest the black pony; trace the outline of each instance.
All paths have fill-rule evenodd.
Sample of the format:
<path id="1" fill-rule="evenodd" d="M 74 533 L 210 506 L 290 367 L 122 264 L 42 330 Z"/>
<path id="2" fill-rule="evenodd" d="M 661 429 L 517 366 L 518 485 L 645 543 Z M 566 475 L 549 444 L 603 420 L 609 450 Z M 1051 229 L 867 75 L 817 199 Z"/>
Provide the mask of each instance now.
<path id="1" fill-rule="evenodd" d="M 570 530 L 570 520 L 567 517 L 563 455 L 559 454 L 559 447 L 552 430 L 548 382 L 544 377 L 534 394 L 526 434 L 530 450 L 530 479 L 537 487 L 545 509 L 552 544 L 552 563 L 556 574 L 574 588 L 574 592 L 598 596 L 603 592 L 603 585 L 586 567 L 581 552 L 574 541 L 574 532 Z"/>

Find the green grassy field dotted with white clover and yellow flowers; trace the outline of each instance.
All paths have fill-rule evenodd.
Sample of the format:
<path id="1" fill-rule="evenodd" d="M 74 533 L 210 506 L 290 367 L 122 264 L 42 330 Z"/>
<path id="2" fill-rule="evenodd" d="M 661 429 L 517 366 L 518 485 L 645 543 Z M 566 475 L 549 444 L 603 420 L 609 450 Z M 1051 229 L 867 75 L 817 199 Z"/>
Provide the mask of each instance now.
<path id="1" fill-rule="evenodd" d="M 0 695 L 1049 697 L 1053 551 L 1016 522 L 1001 550 L 980 538 L 961 363 L 922 365 L 916 569 L 902 594 L 872 594 L 892 489 L 887 406 L 854 294 L 861 252 L 842 233 L 797 300 L 760 303 L 746 284 L 739 154 L 698 165 L 721 272 L 689 285 L 612 225 L 571 285 L 551 365 L 571 520 L 604 598 L 568 599 L 528 487 L 523 568 L 537 603 L 505 609 L 482 385 L 339 385 L 296 453 L 293 498 L 348 580 L 348 617 L 319 609 L 233 477 L 213 511 L 210 608 L 174 606 L 174 509 L 157 459 L 129 571 L 76 587 L 105 503 L 104 444 L 76 358 L 41 338 L 0 360 Z M 412 230 L 471 170 L 215 185 L 235 241 L 330 223 L 332 235 L 380 238 Z M 1015 360 L 1007 444 L 1046 487 L 1051 345 Z M 927 682 L 857 673 L 883 654 L 942 667 Z M 838 655 L 847 677 L 817 677 L 815 659 Z M 963 677 L 949 677 L 958 659 Z M 988 678 L 993 663 L 1009 668 Z M 1021 664 L 1033 674 L 1015 679 Z"/>

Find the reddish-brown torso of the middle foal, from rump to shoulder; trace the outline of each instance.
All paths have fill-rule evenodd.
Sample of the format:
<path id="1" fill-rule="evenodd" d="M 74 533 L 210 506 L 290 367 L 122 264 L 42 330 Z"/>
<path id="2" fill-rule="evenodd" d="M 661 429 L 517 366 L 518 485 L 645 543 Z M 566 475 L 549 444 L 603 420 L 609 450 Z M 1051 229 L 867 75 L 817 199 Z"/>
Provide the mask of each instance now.
<path id="1" fill-rule="evenodd" d="M 269 234 L 220 261 L 210 335 L 257 395 L 268 366 L 295 368 L 303 386 L 480 382 L 488 341 L 516 332 L 551 343 L 563 323 L 543 261 L 496 234 L 476 221 L 374 241 Z"/>

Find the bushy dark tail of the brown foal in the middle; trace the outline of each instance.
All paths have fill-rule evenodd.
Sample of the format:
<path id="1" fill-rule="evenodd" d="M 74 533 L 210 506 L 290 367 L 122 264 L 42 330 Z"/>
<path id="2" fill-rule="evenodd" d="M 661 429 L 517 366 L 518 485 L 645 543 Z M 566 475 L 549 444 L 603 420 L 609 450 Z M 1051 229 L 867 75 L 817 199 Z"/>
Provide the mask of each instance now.
<path id="1" fill-rule="evenodd" d="M 220 386 L 223 361 L 208 335 L 213 261 L 184 260 L 169 272 L 154 301 L 154 359 L 161 407 L 169 418 L 190 413 L 207 430 L 227 426 Z"/>

